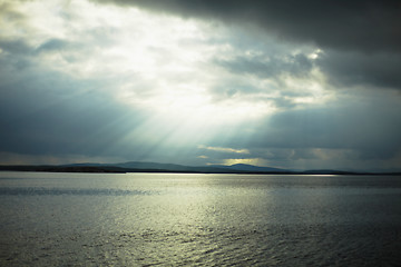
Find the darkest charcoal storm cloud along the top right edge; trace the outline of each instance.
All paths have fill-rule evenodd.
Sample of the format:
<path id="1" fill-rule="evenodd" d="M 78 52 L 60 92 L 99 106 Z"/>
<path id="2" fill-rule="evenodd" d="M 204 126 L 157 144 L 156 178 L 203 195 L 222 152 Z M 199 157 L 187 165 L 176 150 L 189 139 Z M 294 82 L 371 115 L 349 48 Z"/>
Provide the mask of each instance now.
<path id="1" fill-rule="evenodd" d="M 287 39 L 364 51 L 401 50 L 399 1 L 98 0 L 183 17 L 255 23 Z"/>

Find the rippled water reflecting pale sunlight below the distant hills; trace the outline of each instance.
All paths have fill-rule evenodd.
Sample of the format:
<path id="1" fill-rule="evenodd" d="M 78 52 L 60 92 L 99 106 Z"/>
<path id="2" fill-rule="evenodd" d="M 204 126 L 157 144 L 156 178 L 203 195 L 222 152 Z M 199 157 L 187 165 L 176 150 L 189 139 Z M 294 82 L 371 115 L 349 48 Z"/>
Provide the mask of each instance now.
<path id="1" fill-rule="evenodd" d="M 401 177 L 0 172 L 0 266 L 401 266 Z"/>

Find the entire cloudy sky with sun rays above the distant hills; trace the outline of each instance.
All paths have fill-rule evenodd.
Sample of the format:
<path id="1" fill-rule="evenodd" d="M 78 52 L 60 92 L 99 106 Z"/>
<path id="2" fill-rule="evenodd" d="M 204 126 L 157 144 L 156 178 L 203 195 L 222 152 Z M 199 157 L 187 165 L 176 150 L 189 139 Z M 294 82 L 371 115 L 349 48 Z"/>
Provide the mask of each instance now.
<path id="1" fill-rule="evenodd" d="M 0 164 L 401 170 L 400 1 L 0 0 Z"/>

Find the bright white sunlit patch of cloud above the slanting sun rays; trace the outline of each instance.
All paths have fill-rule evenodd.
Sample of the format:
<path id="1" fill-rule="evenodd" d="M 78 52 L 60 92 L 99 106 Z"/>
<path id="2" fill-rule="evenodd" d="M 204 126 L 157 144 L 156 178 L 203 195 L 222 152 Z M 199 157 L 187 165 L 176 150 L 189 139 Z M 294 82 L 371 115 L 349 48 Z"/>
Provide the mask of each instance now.
<path id="1" fill-rule="evenodd" d="M 291 77 L 291 72 L 242 77 L 216 66 L 214 60 L 239 57 L 261 57 L 262 62 L 274 57 L 290 66 L 292 56 L 303 52 L 247 36 L 245 29 L 87 1 L 30 1 L 16 9 L 27 16 L 26 21 L 21 26 L 6 19 L 2 39 L 26 41 L 42 67 L 76 79 L 111 81 L 107 89 L 123 102 L 172 116 L 189 112 L 196 119 L 213 120 L 214 115 L 236 120 L 275 111 L 274 100 L 283 89 L 302 91 L 300 97 L 284 97 L 295 103 L 322 101 L 321 80 Z M 242 31 L 238 44 L 237 31 Z M 243 50 L 243 43 L 255 44 Z M 313 48 L 305 50 L 316 55 Z M 224 96 L 213 91 L 218 87 L 225 87 Z"/>

